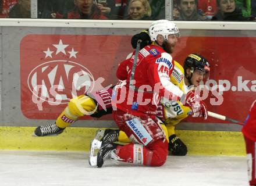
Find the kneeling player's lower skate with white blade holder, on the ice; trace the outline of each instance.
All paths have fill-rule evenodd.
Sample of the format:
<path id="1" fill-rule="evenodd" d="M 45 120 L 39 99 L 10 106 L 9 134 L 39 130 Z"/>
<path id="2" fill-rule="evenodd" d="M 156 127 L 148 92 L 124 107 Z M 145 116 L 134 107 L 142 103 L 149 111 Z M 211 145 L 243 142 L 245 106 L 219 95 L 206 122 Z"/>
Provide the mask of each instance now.
<path id="1" fill-rule="evenodd" d="M 97 152 L 97 149 L 99 149 L 99 151 L 97 155 L 95 155 L 95 152 Z M 107 159 L 122 160 L 115 154 L 115 151 L 116 151 L 116 144 L 113 144 L 111 142 L 101 142 L 94 139 L 91 142 L 91 148 L 89 152 L 90 166 L 102 167 L 102 165 Z"/>

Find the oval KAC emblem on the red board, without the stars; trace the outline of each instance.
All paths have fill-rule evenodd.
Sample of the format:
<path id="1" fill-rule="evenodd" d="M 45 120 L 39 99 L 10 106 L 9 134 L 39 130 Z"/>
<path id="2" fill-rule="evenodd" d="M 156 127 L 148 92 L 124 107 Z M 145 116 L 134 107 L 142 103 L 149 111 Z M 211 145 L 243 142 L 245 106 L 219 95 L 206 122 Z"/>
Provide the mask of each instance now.
<path id="1" fill-rule="evenodd" d="M 53 60 L 36 66 L 27 84 L 33 96 L 50 103 L 68 103 L 68 98 L 85 94 L 94 81 L 86 67 L 76 62 Z"/>

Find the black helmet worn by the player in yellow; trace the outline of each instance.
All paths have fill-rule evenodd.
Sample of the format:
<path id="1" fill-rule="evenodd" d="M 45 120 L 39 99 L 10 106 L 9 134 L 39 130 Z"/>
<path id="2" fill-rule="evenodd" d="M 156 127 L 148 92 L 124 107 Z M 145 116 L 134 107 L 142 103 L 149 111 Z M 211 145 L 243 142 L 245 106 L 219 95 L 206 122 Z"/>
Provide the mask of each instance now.
<path id="1" fill-rule="evenodd" d="M 187 77 L 187 69 L 190 68 L 191 76 Z M 200 71 L 204 74 L 204 80 L 209 79 L 210 65 L 207 59 L 197 53 L 191 53 L 184 61 L 185 76 L 190 80 L 194 71 Z"/>

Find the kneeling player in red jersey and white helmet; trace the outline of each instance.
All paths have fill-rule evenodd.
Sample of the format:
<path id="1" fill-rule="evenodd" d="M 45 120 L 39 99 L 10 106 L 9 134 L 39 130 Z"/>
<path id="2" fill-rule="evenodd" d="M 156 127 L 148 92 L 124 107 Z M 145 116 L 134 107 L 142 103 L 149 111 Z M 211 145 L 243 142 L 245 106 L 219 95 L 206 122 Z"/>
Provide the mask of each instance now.
<path id="1" fill-rule="evenodd" d="M 113 119 L 131 143 L 122 146 L 93 140 L 91 166 L 102 167 L 106 159 L 162 166 L 168 155 L 168 142 L 156 117 L 160 98 L 183 101 L 194 113 L 207 115 L 204 102 L 196 101 L 194 91 L 184 94 L 170 82 L 174 67 L 170 53 L 179 38 L 177 26 L 168 20 L 158 20 L 151 24 L 149 33 L 154 42 L 140 50 L 135 70 L 135 53 L 120 63 L 116 74 L 125 83 L 116 86 L 112 94 Z M 99 148 L 97 156 L 93 156 L 95 148 Z"/>

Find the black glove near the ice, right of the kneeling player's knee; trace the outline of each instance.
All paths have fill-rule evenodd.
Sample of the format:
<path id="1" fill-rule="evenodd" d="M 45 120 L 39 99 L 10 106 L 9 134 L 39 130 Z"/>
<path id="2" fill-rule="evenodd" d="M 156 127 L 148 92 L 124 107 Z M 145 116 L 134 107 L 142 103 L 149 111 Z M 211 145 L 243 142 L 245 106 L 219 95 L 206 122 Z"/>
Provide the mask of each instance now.
<path id="1" fill-rule="evenodd" d="M 176 134 L 173 134 L 169 137 L 169 149 L 172 152 L 172 155 L 175 156 L 185 156 L 187 154 L 187 146 L 177 137 Z"/>

